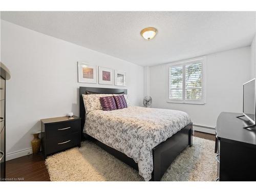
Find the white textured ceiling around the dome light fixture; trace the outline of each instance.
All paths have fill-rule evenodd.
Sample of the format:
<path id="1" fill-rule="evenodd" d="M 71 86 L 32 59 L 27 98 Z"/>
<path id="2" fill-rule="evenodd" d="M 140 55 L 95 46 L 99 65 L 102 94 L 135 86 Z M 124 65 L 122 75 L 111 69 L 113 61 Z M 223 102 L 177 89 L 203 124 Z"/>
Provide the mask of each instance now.
<path id="1" fill-rule="evenodd" d="M 8 22 L 152 66 L 249 46 L 255 12 L 1 12 Z M 145 27 L 158 29 L 150 41 Z"/>

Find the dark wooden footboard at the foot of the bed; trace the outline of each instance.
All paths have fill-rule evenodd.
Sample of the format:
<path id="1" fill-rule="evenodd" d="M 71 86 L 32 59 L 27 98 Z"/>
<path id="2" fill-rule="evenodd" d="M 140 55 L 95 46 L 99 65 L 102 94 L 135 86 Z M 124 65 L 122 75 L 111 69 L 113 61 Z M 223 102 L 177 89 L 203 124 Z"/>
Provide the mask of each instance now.
<path id="1" fill-rule="evenodd" d="M 166 169 L 188 145 L 193 145 L 193 123 L 189 123 L 175 135 L 153 148 L 154 170 L 151 180 L 160 181 Z"/>

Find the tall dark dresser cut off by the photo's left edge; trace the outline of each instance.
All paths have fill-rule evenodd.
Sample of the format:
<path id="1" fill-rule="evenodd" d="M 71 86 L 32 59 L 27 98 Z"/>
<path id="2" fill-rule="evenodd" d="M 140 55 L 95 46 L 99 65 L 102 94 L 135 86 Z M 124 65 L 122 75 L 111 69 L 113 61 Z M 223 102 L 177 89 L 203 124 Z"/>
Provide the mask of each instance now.
<path id="1" fill-rule="evenodd" d="M 10 72 L 6 66 L 1 62 L 1 85 L 0 85 L 0 181 L 5 180 L 5 161 L 6 161 L 6 126 L 5 126 L 5 109 L 6 109 L 6 80 L 10 79 Z"/>

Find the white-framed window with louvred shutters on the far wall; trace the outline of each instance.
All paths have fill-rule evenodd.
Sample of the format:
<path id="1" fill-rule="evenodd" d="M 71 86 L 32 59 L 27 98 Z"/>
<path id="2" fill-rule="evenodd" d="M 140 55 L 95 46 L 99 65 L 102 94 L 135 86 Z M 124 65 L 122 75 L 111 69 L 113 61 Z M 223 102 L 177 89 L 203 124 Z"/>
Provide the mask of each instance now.
<path id="1" fill-rule="evenodd" d="M 205 103 L 205 58 L 168 65 L 167 102 Z"/>

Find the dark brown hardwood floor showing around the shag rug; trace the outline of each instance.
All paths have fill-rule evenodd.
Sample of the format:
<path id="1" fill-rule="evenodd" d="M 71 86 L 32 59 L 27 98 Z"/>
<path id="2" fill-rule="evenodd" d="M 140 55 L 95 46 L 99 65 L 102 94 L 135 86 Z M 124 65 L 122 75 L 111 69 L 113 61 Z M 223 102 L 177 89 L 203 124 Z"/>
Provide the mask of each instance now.
<path id="1" fill-rule="evenodd" d="M 215 140 L 215 135 L 195 132 L 195 137 Z M 27 155 L 6 162 L 6 177 L 24 181 L 50 181 L 44 157 L 41 153 Z"/>

